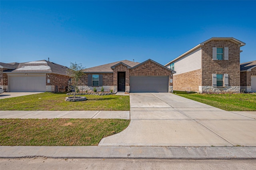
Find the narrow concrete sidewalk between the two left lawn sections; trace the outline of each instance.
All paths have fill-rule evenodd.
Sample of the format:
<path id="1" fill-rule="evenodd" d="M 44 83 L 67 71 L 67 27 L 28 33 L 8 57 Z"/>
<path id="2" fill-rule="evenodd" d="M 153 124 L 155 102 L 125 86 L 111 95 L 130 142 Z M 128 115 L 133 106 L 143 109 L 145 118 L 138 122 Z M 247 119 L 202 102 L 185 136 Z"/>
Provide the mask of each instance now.
<path id="1" fill-rule="evenodd" d="M 130 111 L 0 111 L 0 118 L 54 119 L 130 119 Z"/>

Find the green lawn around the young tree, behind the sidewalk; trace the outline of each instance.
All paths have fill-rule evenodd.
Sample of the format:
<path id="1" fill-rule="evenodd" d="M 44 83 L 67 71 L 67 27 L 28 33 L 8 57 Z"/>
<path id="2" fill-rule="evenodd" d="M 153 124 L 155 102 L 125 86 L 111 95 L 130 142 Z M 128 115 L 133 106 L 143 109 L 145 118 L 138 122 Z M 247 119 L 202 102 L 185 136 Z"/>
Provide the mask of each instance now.
<path id="1" fill-rule="evenodd" d="M 0 100 L 0 110 L 130 110 L 129 96 L 85 95 L 88 100 L 66 102 L 64 93 L 40 93 Z"/>

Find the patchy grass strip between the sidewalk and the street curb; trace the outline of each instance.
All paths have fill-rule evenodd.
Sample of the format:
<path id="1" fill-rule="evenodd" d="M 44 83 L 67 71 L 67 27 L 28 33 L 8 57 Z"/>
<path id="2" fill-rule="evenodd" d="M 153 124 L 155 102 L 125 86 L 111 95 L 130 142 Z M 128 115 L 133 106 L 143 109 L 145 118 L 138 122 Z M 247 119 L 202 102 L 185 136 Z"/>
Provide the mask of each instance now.
<path id="1" fill-rule="evenodd" d="M 124 119 L 0 119 L 0 145 L 96 146 L 129 123 Z"/>

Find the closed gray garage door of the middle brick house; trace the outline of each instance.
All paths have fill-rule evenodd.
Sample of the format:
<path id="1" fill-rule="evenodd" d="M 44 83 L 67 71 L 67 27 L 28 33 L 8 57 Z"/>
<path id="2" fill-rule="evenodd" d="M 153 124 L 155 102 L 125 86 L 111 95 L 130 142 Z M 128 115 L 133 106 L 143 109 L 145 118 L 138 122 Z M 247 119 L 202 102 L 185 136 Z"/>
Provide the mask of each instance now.
<path id="1" fill-rule="evenodd" d="M 168 92 L 169 76 L 130 76 L 130 92 Z"/>

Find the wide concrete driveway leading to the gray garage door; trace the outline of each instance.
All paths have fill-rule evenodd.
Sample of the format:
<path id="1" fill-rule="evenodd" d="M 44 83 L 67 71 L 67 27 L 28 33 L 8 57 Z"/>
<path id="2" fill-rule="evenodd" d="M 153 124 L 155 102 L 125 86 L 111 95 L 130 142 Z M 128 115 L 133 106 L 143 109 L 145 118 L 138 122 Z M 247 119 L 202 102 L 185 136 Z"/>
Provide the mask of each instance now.
<path id="1" fill-rule="evenodd" d="M 256 146 L 256 112 L 230 112 L 170 93 L 131 93 L 130 125 L 99 146 Z"/>

